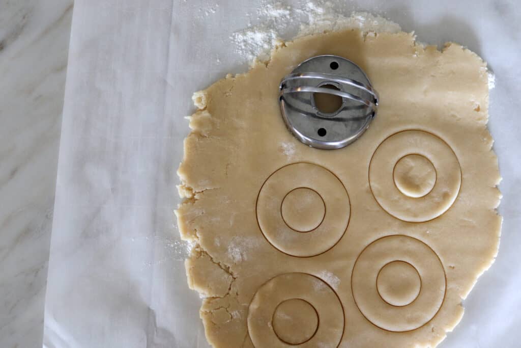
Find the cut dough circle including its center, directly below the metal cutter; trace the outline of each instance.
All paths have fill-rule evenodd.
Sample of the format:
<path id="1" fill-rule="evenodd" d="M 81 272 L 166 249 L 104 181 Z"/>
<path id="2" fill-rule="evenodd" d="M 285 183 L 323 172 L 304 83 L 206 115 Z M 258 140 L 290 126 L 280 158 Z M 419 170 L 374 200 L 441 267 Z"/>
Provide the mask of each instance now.
<path id="1" fill-rule="evenodd" d="M 350 209 L 348 193 L 333 173 L 316 164 L 294 163 L 268 177 L 256 212 L 271 245 L 292 256 L 310 257 L 340 241 Z"/>

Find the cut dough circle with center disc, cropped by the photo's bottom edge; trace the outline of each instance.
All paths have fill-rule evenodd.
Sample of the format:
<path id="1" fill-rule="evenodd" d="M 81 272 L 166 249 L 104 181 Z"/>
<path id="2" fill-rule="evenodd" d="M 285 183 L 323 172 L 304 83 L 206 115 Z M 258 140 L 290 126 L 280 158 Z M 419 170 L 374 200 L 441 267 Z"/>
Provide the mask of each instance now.
<path id="1" fill-rule="evenodd" d="M 255 347 L 337 347 L 344 331 L 344 310 L 323 280 L 307 273 L 285 273 L 257 290 L 247 325 Z"/>

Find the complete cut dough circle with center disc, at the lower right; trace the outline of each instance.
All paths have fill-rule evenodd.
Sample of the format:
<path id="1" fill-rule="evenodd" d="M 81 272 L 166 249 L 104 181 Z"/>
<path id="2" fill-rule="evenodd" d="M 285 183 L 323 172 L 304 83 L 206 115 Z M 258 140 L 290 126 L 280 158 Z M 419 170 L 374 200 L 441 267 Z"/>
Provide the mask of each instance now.
<path id="1" fill-rule="evenodd" d="M 383 330 L 404 332 L 424 326 L 438 313 L 446 277 L 438 255 L 427 244 L 391 235 L 370 243 L 358 256 L 351 287 L 367 320 Z"/>

